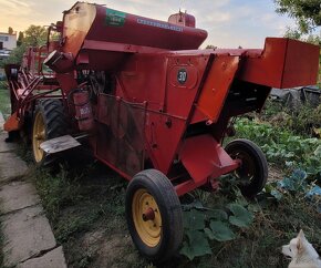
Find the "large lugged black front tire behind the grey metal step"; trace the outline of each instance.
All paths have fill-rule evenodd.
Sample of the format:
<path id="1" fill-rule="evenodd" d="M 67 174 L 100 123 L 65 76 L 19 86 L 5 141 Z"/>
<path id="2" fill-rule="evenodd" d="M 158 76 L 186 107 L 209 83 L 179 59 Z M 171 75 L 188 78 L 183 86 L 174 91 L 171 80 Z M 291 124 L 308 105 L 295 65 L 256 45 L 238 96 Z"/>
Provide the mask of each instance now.
<path id="1" fill-rule="evenodd" d="M 38 103 L 33 118 L 40 114 L 43 118 L 45 127 L 45 138 L 44 141 L 63 136 L 68 134 L 69 121 L 66 117 L 65 109 L 61 100 L 48 99 L 41 100 Z M 34 136 L 34 120 L 32 127 L 32 137 Z M 33 141 L 33 138 L 32 138 Z M 60 154 L 43 154 L 41 161 L 37 161 L 34 156 L 34 146 L 33 148 L 33 159 L 38 166 L 54 166 L 59 163 Z"/>

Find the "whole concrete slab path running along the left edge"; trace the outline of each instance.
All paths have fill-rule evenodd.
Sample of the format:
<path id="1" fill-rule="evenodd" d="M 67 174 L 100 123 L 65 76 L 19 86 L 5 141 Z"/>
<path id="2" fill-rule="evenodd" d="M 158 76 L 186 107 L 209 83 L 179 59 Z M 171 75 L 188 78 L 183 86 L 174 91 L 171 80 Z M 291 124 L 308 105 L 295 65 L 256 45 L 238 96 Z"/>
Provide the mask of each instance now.
<path id="1" fill-rule="evenodd" d="M 4 143 L 0 112 L 0 221 L 3 265 L 19 268 L 64 268 L 62 247 L 56 245 L 34 186 L 25 182 L 25 163 L 15 144 Z"/>

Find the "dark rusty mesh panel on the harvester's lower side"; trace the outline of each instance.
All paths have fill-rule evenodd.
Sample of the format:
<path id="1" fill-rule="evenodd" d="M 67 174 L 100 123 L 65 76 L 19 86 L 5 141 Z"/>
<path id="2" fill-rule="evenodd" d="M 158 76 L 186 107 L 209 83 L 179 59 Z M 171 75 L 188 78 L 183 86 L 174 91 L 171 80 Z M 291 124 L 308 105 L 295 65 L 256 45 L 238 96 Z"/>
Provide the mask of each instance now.
<path id="1" fill-rule="evenodd" d="M 101 94 L 99 106 L 97 156 L 134 176 L 144 168 L 144 105 Z"/>

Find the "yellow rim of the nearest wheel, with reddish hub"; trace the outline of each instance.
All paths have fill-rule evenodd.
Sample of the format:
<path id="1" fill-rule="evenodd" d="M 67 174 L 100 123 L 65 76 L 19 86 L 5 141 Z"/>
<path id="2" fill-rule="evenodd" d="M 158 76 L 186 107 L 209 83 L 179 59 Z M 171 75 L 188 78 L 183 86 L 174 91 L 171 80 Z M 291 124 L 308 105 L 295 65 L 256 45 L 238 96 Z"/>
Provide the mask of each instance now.
<path id="1" fill-rule="evenodd" d="M 133 219 L 142 241 L 148 247 L 156 247 L 161 241 L 162 216 L 155 198 L 147 189 L 138 189 L 132 204 Z"/>

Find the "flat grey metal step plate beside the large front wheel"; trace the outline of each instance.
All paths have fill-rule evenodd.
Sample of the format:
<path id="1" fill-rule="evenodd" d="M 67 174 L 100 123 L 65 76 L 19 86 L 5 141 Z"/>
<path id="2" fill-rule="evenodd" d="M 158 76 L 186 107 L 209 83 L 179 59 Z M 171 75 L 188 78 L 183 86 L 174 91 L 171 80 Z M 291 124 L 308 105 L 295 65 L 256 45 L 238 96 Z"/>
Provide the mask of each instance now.
<path id="1" fill-rule="evenodd" d="M 71 135 L 64 135 L 43 142 L 40 144 L 40 148 L 46 154 L 54 154 L 80 145 L 81 144 Z"/>

